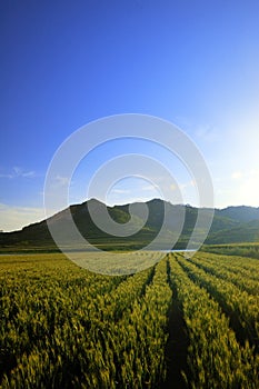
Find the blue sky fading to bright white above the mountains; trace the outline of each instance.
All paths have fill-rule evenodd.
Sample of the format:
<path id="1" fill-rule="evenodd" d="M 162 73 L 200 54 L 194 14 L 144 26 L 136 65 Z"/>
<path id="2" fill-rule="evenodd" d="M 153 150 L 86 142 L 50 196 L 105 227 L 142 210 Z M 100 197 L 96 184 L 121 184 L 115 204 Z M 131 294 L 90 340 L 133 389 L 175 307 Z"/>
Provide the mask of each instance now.
<path id="1" fill-rule="evenodd" d="M 57 149 L 87 123 L 121 113 L 178 126 L 205 158 L 215 207 L 259 207 L 258 42 L 257 0 L 1 1 L 0 230 L 43 219 L 44 179 Z M 127 152 L 159 157 L 182 202 L 205 206 L 179 159 L 140 140 L 86 156 L 69 202 L 84 201 L 101 163 Z M 57 177 L 61 186 L 67 179 Z M 101 200 L 153 197 L 160 197 L 157 186 L 132 177 Z M 173 190 L 168 200 L 176 201 Z"/>

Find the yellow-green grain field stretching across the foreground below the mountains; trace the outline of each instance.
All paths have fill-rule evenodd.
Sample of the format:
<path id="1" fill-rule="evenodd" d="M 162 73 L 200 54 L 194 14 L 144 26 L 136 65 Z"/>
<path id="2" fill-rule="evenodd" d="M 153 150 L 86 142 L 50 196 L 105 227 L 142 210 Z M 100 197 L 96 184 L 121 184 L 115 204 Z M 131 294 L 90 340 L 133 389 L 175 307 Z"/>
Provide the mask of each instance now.
<path id="1" fill-rule="evenodd" d="M 259 261 L 165 256 L 121 277 L 61 253 L 0 256 L 0 387 L 259 388 Z"/>

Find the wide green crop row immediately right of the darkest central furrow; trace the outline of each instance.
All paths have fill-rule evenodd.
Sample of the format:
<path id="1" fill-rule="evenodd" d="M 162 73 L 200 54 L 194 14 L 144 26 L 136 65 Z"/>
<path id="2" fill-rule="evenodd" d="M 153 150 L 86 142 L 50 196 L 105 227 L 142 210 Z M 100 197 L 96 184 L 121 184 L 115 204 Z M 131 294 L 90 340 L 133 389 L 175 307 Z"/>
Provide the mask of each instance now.
<path id="1" fill-rule="evenodd" d="M 170 277 L 188 329 L 191 387 L 258 388 L 258 359 L 248 343 L 239 346 L 218 302 L 188 277 L 179 258 L 170 257 Z"/>

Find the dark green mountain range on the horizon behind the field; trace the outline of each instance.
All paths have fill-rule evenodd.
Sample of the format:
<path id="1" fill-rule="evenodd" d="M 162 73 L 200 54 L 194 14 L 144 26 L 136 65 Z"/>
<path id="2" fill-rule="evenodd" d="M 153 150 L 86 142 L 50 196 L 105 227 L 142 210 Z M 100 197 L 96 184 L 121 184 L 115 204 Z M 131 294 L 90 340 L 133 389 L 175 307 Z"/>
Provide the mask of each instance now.
<path id="1" fill-rule="evenodd" d="M 96 226 L 91 219 L 89 208 L 94 217 L 99 217 L 102 226 Z M 87 238 L 91 245 L 103 249 L 138 249 L 146 247 L 158 236 L 162 226 L 163 233 L 159 238 L 157 248 L 168 247 L 168 242 L 173 240 L 176 241 L 175 248 L 185 248 L 196 225 L 198 210 L 201 216 L 201 228 L 197 231 L 193 242 L 199 241 L 203 232 L 202 226 L 206 226 L 211 211 L 215 211 L 215 216 L 206 243 L 259 241 L 259 208 L 242 206 L 215 210 L 198 209 L 191 206 L 171 205 L 160 199 L 107 207 L 104 203 L 91 199 L 81 205 L 70 206 L 48 220 L 27 226 L 20 231 L 0 233 L 0 248 L 1 250 L 19 248 L 53 250 L 56 243 L 49 232 L 49 225 L 59 236 L 62 245 L 80 249 L 78 236 L 71 233 L 70 212 L 82 237 Z M 108 230 L 110 231 L 110 226 L 102 217 L 104 211 L 116 222 L 112 227 L 114 233 L 103 231 L 106 227 L 109 227 Z M 183 215 L 185 219 L 182 220 Z M 177 230 L 181 222 L 183 222 L 182 232 L 177 239 Z M 121 228 L 118 227 L 118 223 L 121 225 Z M 120 235 L 121 231 L 124 236 L 123 233 L 118 236 L 118 232 Z"/>

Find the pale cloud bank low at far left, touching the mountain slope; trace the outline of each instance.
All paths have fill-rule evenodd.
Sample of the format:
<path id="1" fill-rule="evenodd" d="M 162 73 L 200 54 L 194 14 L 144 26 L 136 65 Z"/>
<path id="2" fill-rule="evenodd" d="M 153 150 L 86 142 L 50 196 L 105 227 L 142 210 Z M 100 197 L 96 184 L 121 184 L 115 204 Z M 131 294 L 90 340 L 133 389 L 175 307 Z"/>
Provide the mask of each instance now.
<path id="1" fill-rule="evenodd" d="M 43 220 L 43 208 L 14 207 L 0 203 L 0 230 L 20 230 L 30 223 Z"/>

